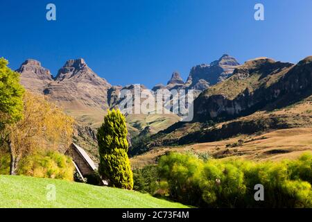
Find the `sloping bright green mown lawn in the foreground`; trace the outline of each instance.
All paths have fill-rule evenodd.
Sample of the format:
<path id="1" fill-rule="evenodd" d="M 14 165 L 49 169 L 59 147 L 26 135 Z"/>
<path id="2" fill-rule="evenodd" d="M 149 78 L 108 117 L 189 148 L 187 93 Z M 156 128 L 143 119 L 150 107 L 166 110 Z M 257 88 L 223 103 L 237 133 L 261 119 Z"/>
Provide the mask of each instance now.
<path id="1" fill-rule="evenodd" d="M 55 186 L 55 200 L 48 200 L 48 185 Z M 0 207 L 186 207 L 148 194 L 78 182 L 0 176 Z"/>

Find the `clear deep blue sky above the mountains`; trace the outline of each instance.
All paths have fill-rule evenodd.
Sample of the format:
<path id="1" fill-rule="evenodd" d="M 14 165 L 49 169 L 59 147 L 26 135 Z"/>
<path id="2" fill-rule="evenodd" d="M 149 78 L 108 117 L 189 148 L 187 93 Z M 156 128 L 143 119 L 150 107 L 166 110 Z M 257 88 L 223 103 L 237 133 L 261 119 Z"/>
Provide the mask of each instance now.
<path id="1" fill-rule="evenodd" d="M 46 20 L 55 3 L 57 20 Z M 265 21 L 254 20 L 254 4 Z M 311 0 L 0 0 L 0 56 L 40 60 L 55 75 L 70 58 L 114 85 L 166 83 L 229 53 L 297 62 L 312 55 Z"/>

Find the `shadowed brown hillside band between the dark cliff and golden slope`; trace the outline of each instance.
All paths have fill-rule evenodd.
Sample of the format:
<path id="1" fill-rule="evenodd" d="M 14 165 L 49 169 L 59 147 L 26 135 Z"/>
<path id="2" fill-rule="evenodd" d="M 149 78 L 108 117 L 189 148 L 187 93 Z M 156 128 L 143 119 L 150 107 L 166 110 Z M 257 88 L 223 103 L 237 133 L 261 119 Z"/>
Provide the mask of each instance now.
<path id="1" fill-rule="evenodd" d="M 240 135 L 254 137 L 282 129 L 312 128 L 312 96 L 295 104 L 271 111 L 258 111 L 245 117 L 217 123 L 176 123 L 152 135 L 137 150 L 218 142 Z M 238 140 L 238 139 L 237 139 Z M 141 153 L 141 152 L 138 152 Z"/>

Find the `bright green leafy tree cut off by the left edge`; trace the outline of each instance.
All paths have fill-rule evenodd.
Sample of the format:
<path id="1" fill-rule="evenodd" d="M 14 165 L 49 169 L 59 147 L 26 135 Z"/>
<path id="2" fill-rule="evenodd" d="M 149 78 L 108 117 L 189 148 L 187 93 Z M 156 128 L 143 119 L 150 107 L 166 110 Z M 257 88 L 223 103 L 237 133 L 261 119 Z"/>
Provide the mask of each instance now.
<path id="1" fill-rule="evenodd" d="M 24 87 L 19 84 L 19 74 L 8 67 L 8 61 L 0 58 L 0 145 L 6 144 L 10 151 L 10 173 L 15 174 L 15 155 L 12 152 L 10 126 L 23 117 Z"/>

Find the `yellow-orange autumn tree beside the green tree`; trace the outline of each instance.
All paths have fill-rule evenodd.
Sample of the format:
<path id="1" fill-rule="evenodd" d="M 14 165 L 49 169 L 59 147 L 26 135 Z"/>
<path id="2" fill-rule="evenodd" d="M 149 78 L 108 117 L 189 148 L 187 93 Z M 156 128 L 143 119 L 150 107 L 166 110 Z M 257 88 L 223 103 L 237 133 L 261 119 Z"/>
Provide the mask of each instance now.
<path id="1" fill-rule="evenodd" d="M 73 119 L 49 103 L 45 96 L 26 92 L 23 100 L 23 118 L 6 124 L 3 130 L 9 144 L 10 174 L 15 174 L 22 157 L 33 152 L 64 153 L 73 134 Z"/>

